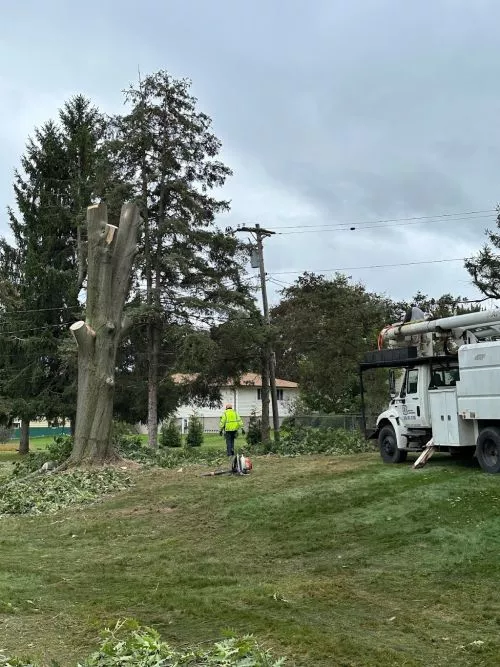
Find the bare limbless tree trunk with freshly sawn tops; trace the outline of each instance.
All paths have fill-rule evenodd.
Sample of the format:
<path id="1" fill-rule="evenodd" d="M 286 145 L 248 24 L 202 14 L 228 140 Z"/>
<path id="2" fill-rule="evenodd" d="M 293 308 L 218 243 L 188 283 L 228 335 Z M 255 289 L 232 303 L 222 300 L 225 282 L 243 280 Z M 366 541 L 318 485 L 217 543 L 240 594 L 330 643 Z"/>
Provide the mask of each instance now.
<path id="1" fill-rule="evenodd" d="M 120 225 L 107 222 L 105 204 L 89 206 L 85 322 L 70 329 L 78 344 L 75 442 L 69 465 L 116 459 L 111 442 L 116 353 L 127 328 L 123 307 L 137 251 L 139 211 L 122 207 Z"/>

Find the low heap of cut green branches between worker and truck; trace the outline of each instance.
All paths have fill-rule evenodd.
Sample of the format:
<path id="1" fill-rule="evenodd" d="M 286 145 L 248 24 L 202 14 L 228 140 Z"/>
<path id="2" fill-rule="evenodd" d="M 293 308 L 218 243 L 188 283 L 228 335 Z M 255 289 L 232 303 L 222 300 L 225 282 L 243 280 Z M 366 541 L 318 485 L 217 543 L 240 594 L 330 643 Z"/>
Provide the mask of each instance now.
<path id="1" fill-rule="evenodd" d="M 358 454 L 371 452 L 374 445 L 360 431 L 344 429 L 315 429 L 306 426 L 285 426 L 280 431 L 280 442 L 268 442 L 257 449 L 262 454 L 299 456 L 302 454 Z"/>

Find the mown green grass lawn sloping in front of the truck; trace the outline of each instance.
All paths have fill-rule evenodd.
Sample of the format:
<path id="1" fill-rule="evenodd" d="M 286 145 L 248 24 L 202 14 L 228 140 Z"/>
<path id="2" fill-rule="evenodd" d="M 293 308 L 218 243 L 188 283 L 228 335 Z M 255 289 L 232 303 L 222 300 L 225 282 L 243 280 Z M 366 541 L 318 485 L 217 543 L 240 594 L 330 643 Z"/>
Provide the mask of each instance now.
<path id="1" fill-rule="evenodd" d="M 1 518 L 0 647 L 72 664 L 127 616 L 174 645 L 252 632 L 290 665 L 500 663 L 500 477 L 446 455 L 254 466 Z"/>

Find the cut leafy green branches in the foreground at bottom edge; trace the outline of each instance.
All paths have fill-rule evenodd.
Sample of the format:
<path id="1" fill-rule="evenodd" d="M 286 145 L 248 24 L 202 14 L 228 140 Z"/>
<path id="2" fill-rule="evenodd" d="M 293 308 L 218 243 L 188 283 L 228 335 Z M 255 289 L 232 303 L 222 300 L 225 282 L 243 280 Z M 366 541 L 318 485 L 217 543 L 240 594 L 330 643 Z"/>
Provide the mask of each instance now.
<path id="1" fill-rule="evenodd" d="M 29 659 L 5 660 L 0 655 L 0 665 L 5 667 L 40 667 Z M 203 648 L 174 649 L 161 639 L 156 630 L 140 627 L 135 621 L 119 621 L 112 630 L 102 633 L 99 649 L 83 662 L 79 662 L 78 667 L 280 667 L 284 664 L 284 658 L 275 660 L 269 651 L 257 644 L 252 635 L 230 637 Z"/>

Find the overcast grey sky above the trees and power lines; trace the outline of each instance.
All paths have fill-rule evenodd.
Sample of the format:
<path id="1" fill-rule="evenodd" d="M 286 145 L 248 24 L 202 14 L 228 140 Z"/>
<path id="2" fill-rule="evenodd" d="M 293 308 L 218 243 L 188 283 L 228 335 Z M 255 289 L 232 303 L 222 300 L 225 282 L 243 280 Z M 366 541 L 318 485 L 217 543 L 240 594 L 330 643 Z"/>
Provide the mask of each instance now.
<path id="1" fill-rule="evenodd" d="M 117 112 L 138 66 L 164 68 L 193 80 L 224 143 L 227 224 L 282 232 L 274 279 L 467 256 L 493 213 L 338 226 L 494 209 L 498 25 L 498 0 L 2 0 L 0 210 L 27 136 L 69 96 Z M 394 298 L 477 295 L 460 261 L 347 273 Z"/>

